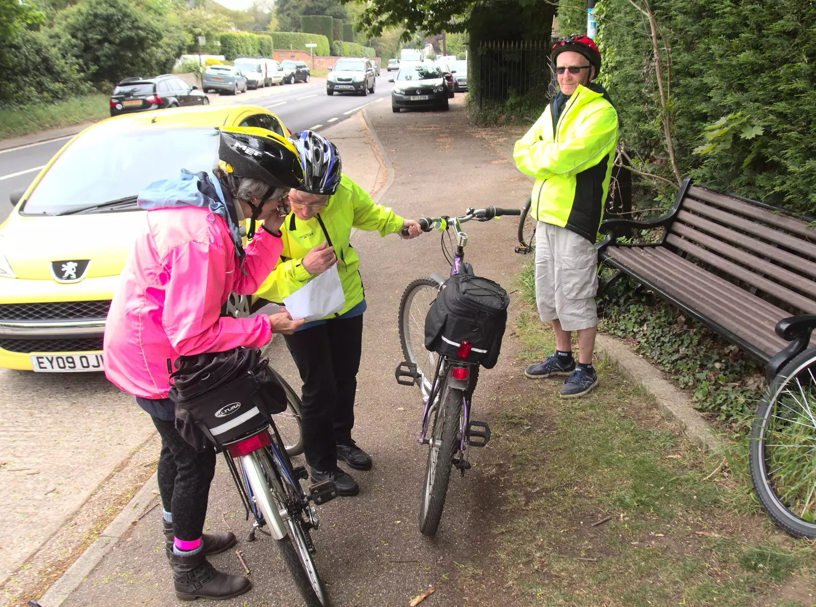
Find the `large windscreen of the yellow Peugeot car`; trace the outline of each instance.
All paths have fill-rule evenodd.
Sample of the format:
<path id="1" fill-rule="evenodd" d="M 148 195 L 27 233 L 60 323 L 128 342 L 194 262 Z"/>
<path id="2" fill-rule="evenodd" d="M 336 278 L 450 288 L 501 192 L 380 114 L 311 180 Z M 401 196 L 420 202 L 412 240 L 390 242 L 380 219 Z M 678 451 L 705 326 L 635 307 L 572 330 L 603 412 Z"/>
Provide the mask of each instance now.
<path id="1" fill-rule="evenodd" d="M 210 171 L 218 152 L 214 128 L 91 129 L 60 154 L 22 209 L 52 215 L 135 196 L 156 179 L 181 169 Z"/>

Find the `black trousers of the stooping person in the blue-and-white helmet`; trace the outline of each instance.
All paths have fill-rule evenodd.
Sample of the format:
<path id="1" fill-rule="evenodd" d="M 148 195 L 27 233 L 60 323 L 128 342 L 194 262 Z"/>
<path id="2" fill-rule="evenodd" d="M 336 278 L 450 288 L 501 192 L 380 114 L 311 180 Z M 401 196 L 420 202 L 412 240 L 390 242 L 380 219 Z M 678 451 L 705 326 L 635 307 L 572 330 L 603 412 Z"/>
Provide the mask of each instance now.
<path id="1" fill-rule="evenodd" d="M 317 470 L 334 470 L 336 445 L 352 439 L 362 316 L 335 318 L 324 325 L 286 335 L 286 346 L 304 383 L 301 417 L 304 454 L 309 465 Z"/>

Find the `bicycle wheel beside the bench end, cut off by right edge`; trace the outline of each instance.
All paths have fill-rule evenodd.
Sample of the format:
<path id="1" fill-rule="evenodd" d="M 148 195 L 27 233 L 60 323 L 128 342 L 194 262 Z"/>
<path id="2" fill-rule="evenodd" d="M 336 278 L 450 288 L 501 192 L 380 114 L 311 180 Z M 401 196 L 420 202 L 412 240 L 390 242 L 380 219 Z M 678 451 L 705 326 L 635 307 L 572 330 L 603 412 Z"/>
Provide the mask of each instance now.
<path id="1" fill-rule="evenodd" d="M 762 508 L 796 538 L 816 538 L 814 415 L 816 350 L 808 350 L 783 367 L 757 405 L 748 450 L 751 480 Z"/>

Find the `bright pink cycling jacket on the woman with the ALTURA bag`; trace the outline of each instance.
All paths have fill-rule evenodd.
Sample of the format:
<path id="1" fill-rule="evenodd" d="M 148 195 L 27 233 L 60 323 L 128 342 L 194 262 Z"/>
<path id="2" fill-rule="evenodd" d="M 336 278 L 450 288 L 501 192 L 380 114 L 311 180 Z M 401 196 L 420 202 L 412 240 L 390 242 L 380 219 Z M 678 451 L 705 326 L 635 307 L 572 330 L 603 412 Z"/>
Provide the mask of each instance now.
<path id="1" fill-rule="evenodd" d="M 166 398 L 179 356 L 259 348 L 272 339 L 269 318 L 220 317 L 230 292 L 251 295 L 272 272 L 282 241 L 259 230 L 237 267 L 223 217 L 208 208 L 144 214 L 113 295 L 104 332 L 105 375 L 135 397 Z M 242 271 L 243 270 L 243 271 Z"/>

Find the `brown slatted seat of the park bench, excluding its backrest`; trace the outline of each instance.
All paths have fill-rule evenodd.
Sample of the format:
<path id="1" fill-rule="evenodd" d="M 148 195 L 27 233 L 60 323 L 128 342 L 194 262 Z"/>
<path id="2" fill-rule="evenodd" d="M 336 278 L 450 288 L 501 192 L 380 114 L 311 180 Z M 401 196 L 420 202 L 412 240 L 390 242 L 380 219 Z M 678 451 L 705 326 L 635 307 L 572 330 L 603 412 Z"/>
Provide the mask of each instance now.
<path id="1" fill-rule="evenodd" d="M 689 308 L 693 308 L 702 317 L 710 319 L 716 324 L 724 327 L 726 330 L 729 330 L 734 335 L 737 335 L 739 338 L 743 339 L 743 341 L 752 344 L 757 350 L 765 352 L 765 356 L 767 358 L 772 357 L 776 352 L 783 349 L 787 345 L 787 342 L 778 338 L 778 336 L 774 334 L 774 326 L 776 325 L 776 322 L 779 318 L 787 316 L 787 314 L 780 313 L 778 318 L 768 317 L 765 315 L 762 315 L 761 317 L 752 317 L 752 322 L 746 323 L 744 310 L 743 312 L 740 312 L 739 310 L 726 310 L 722 306 L 721 302 L 716 299 L 716 296 L 711 294 L 710 291 L 701 289 L 699 285 L 686 285 L 685 289 L 679 288 L 680 285 L 676 281 L 676 272 L 673 270 L 676 269 L 678 264 L 688 264 L 690 266 L 694 266 L 694 264 L 691 264 L 691 262 L 669 253 L 668 257 L 665 257 L 660 261 L 672 263 L 663 266 L 663 271 L 656 272 L 656 267 L 661 265 L 658 263 L 658 258 L 659 256 L 663 257 L 663 255 L 657 254 L 658 250 L 659 248 L 652 252 L 651 249 L 646 248 L 643 250 L 637 250 L 624 249 L 621 247 L 615 248 L 614 250 L 609 250 L 608 252 L 616 259 L 619 259 L 620 262 L 623 262 L 623 264 L 629 268 L 632 268 L 636 275 L 639 274 L 642 277 L 645 277 L 645 279 L 651 281 L 660 290 L 663 290 L 667 294 L 672 295 L 672 297 L 684 302 Z M 672 257 L 674 259 L 671 259 Z M 674 266 L 673 268 L 672 265 Z M 667 276 L 672 277 L 671 281 L 667 279 Z M 703 293 L 706 293 L 707 295 L 701 296 Z M 759 299 L 756 298 L 756 295 L 751 295 L 744 290 L 743 294 L 747 296 L 746 299 Z M 780 310 L 779 312 L 782 311 Z"/>

